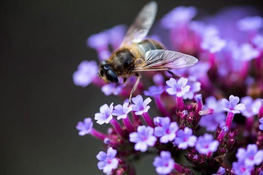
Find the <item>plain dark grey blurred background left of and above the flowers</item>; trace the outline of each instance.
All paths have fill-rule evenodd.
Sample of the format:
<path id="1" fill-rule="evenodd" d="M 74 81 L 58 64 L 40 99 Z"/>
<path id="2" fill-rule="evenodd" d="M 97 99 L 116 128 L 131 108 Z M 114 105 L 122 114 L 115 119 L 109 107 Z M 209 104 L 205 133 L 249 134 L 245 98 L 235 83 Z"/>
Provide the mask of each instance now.
<path id="1" fill-rule="evenodd" d="M 130 24 L 146 2 L 1 1 L 0 174 L 102 174 L 95 157 L 102 143 L 79 137 L 75 125 L 116 98 L 75 86 L 72 73 L 82 60 L 97 60 L 85 46 L 89 35 Z M 157 2 L 157 20 L 181 5 L 211 14 L 230 5 L 262 8 L 260 1 Z M 152 161 L 140 162 L 138 174 L 152 174 Z"/>

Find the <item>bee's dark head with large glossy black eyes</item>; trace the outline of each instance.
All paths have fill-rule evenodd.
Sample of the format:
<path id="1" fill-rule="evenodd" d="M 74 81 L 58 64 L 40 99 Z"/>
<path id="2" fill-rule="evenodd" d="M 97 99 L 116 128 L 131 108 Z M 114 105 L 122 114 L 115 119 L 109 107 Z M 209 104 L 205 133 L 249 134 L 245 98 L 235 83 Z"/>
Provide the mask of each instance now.
<path id="1" fill-rule="evenodd" d="M 104 81 L 110 81 L 117 83 L 119 81 L 118 76 L 112 70 L 112 66 L 108 61 L 102 61 L 99 66 L 99 77 L 104 79 Z"/>

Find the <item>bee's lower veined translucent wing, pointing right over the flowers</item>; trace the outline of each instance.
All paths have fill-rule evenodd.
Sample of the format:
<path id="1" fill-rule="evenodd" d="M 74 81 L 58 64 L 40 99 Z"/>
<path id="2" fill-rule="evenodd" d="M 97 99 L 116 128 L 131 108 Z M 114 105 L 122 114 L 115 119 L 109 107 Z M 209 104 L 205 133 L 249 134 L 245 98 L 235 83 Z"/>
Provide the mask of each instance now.
<path id="1" fill-rule="evenodd" d="M 134 71 L 181 69 L 191 67 L 197 62 L 197 58 L 180 52 L 150 50 L 145 54 L 145 61 L 135 66 Z"/>

